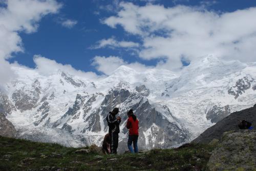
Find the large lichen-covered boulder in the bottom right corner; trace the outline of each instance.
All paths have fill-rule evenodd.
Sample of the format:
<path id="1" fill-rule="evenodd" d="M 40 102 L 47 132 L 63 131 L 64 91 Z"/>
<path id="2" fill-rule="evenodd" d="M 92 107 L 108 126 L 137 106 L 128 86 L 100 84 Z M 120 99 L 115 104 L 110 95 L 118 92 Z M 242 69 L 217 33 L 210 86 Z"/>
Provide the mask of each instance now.
<path id="1" fill-rule="evenodd" d="M 224 133 L 207 163 L 207 170 L 255 170 L 255 144 L 255 131 Z"/>

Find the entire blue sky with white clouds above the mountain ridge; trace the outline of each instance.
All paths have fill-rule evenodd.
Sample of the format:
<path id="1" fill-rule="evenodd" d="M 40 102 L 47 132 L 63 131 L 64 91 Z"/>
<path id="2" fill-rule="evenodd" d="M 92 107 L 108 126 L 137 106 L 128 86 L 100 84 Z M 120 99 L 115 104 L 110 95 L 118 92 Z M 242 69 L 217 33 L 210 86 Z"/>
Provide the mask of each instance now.
<path id="1" fill-rule="evenodd" d="M 206 55 L 255 62 L 255 16 L 254 0 L 0 0 L 0 81 L 12 65 L 95 79 Z"/>

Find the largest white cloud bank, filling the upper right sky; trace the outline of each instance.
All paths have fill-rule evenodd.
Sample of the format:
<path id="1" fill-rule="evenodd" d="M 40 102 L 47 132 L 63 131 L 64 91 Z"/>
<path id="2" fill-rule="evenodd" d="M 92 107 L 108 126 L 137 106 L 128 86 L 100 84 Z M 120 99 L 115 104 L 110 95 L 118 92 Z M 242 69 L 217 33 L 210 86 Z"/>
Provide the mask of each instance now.
<path id="1" fill-rule="evenodd" d="M 127 33 L 140 37 L 141 58 L 164 59 L 164 68 L 179 69 L 182 58 L 193 61 L 208 54 L 226 60 L 255 61 L 254 16 L 256 8 L 218 13 L 202 7 L 120 3 L 118 13 L 103 23 L 112 28 L 120 25 Z"/>

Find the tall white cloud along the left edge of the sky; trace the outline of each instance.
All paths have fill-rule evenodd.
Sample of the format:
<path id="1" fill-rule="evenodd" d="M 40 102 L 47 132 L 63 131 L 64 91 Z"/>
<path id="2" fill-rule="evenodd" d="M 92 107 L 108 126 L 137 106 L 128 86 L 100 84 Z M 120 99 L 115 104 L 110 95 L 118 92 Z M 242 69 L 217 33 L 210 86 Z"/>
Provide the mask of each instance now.
<path id="1" fill-rule="evenodd" d="M 20 32 L 33 33 L 38 21 L 47 14 L 57 13 L 61 4 L 55 0 L 5 0 L 0 1 L 0 80 L 3 87 L 13 72 L 6 59 L 13 53 L 23 52 Z M 3 89 L 3 88 L 2 88 Z"/>

